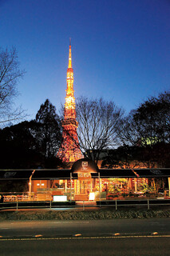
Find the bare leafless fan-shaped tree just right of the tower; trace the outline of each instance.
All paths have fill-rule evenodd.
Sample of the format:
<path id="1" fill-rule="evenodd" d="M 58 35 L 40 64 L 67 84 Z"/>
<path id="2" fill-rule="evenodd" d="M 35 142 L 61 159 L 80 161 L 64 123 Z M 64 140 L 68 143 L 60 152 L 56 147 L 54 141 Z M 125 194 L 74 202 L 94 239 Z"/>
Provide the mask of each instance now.
<path id="1" fill-rule="evenodd" d="M 77 99 L 76 110 L 77 146 L 85 157 L 97 162 L 102 150 L 117 145 L 124 111 L 113 101 L 85 97 Z"/>

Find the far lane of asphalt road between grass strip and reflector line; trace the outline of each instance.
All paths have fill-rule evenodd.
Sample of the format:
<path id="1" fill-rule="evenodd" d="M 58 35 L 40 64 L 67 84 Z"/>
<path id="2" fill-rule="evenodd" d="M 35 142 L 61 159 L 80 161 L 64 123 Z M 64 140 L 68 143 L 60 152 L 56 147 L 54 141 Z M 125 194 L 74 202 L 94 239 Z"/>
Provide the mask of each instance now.
<path id="1" fill-rule="evenodd" d="M 11 221 L 0 222 L 0 236 L 34 237 L 41 234 L 43 237 L 73 237 L 75 234 L 82 236 L 102 236 L 109 234 L 170 234 L 170 219 L 111 219 L 89 221 Z"/>

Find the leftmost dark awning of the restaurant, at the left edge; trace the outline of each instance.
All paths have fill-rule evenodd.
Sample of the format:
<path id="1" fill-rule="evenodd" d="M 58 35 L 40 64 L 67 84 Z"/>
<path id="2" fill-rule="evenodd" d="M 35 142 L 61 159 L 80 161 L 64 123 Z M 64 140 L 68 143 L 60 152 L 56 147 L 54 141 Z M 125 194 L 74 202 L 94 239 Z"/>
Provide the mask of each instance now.
<path id="1" fill-rule="evenodd" d="M 29 180 L 33 170 L 0 170 L 0 180 Z"/>

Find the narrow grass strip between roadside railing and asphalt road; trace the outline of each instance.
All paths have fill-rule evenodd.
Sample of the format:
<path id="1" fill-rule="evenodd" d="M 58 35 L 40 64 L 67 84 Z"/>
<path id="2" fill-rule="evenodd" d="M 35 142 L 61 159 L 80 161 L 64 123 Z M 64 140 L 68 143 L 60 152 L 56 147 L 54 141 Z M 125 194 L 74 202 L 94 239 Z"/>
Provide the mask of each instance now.
<path id="1" fill-rule="evenodd" d="M 4 220 L 92 220 L 114 218 L 170 218 L 170 210 L 2 211 Z"/>

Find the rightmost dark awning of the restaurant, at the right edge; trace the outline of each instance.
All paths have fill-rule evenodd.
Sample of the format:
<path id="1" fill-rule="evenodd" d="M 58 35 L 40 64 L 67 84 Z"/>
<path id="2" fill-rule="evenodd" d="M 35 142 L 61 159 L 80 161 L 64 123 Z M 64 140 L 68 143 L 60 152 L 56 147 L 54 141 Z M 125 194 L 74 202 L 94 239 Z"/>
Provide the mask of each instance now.
<path id="1" fill-rule="evenodd" d="M 138 178 L 166 178 L 170 177 L 170 168 L 166 169 L 133 169 Z"/>

